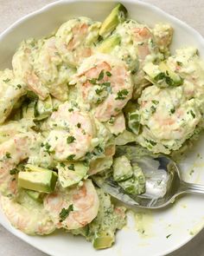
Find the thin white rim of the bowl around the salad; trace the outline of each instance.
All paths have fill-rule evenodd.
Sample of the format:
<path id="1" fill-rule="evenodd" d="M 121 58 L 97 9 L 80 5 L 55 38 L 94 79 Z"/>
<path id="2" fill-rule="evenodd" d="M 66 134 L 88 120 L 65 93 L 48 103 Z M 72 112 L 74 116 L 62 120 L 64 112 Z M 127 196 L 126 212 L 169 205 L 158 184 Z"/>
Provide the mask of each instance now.
<path id="1" fill-rule="evenodd" d="M 200 42 L 203 47 L 204 47 L 204 37 L 201 36 L 201 34 L 195 30 L 193 27 L 191 27 L 190 25 L 188 25 L 188 23 L 183 22 L 182 20 L 180 20 L 179 18 L 170 15 L 168 12 L 160 9 L 159 7 L 155 6 L 152 3 L 147 3 L 147 2 L 143 2 L 142 0 L 55 0 L 53 3 L 47 3 L 45 4 L 43 7 L 41 7 L 40 9 L 31 11 L 29 14 L 22 16 L 21 18 L 18 18 L 14 23 L 10 24 L 9 27 L 7 27 L 5 30 L 3 30 L 0 33 L 0 41 L 3 39 L 3 37 L 7 36 L 7 34 L 9 34 L 10 32 L 12 32 L 12 30 L 15 30 L 18 25 L 25 23 L 30 17 L 34 17 L 37 16 L 43 12 L 46 12 L 52 8 L 54 8 L 54 6 L 56 5 L 60 5 L 61 3 L 133 3 L 133 4 L 138 4 L 138 5 L 142 5 L 146 8 L 148 8 L 149 10 L 154 11 L 155 13 L 158 14 L 162 14 L 163 16 L 168 17 L 170 20 L 172 20 L 175 23 L 181 24 L 182 27 L 184 27 L 185 29 L 187 29 L 188 31 L 190 31 L 190 33 L 194 36 L 195 40 Z M 2 223 L 1 223 L 2 224 Z M 3 224 L 2 224 L 3 225 Z M 3 225 L 7 230 L 7 226 Z M 201 227 L 201 230 L 203 229 L 204 226 Z M 201 230 L 198 233 L 195 233 L 194 235 L 191 235 L 187 240 L 182 241 L 181 243 L 178 243 L 177 246 L 171 246 L 170 249 L 166 249 L 166 251 L 163 251 L 163 255 L 167 255 L 169 253 L 173 253 L 175 252 L 175 250 L 181 248 L 182 246 L 186 245 L 190 240 L 193 240 L 195 236 L 197 236 L 199 233 L 201 233 Z M 25 241 L 26 243 L 28 243 L 30 246 L 33 246 L 35 248 L 37 248 L 38 250 L 41 250 L 41 252 L 43 253 L 49 253 L 48 251 L 44 250 L 44 249 L 39 249 L 37 246 L 33 245 L 29 240 L 27 240 L 26 238 L 22 239 L 18 233 L 12 232 L 12 230 L 9 230 L 10 233 L 13 233 L 16 237 L 18 237 L 19 239 Z M 53 255 L 54 254 L 50 254 Z"/>

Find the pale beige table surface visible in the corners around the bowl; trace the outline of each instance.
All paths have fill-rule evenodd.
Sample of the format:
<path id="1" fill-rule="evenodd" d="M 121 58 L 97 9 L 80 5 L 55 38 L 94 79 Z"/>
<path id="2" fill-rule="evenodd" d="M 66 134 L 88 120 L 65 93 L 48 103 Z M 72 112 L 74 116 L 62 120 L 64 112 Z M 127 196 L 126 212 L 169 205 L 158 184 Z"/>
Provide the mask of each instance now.
<path id="1" fill-rule="evenodd" d="M 54 0 L 0 0 L 0 33 L 18 18 Z M 204 36 L 204 0 L 146 0 L 190 24 Z M 0 255 L 46 256 L 7 232 L 0 225 Z M 78 255 L 76 255 L 78 256 Z M 150 255 L 147 255 L 150 256 Z M 204 256 L 204 230 L 169 256 Z"/>

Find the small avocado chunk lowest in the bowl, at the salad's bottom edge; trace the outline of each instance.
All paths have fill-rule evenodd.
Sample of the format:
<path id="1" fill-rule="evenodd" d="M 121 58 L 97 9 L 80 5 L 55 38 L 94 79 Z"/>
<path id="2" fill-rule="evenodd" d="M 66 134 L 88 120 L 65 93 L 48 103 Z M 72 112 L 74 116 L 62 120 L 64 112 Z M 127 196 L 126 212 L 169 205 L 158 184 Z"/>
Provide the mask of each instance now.
<path id="1" fill-rule="evenodd" d="M 112 246 L 114 242 L 114 235 L 113 237 L 108 233 L 98 233 L 97 237 L 92 240 L 92 246 L 95 249 L 105 249 Z"/>

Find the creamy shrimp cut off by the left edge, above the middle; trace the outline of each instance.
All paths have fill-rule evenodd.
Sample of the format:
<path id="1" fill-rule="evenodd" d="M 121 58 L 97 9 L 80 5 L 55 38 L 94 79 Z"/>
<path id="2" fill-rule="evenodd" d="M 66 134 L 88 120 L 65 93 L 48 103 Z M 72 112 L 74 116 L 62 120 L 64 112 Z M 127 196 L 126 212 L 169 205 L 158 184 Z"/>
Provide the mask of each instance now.
<path id="1" fill-rule="evenodd" d="M 10 115 L 14 105 L 26 94 L 25 84 L 14 76 L 12 70 L 0 71 L 0 123 Z"/>

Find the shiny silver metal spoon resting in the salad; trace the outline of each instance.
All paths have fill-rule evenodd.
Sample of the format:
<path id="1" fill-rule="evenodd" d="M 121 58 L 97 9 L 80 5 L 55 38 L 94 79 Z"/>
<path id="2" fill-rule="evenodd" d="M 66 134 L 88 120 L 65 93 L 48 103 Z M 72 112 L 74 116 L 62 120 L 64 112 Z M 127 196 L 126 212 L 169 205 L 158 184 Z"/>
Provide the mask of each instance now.
<path id="1" fill-rule="evenodd" d="M 112 176 L 102 181 L 94 180 L 105 193 L 121 200 L 131 207 L 158 209 L 168 206 L 175 198 L 184 193 L 204 194 L 204 186 L 182 181 L 179 168 L 175 161 L 160 155 L 156 158 L 143 156 L 137 159 L 146 177 L 146 192 L 140 195 L 127 194 Z"/>

